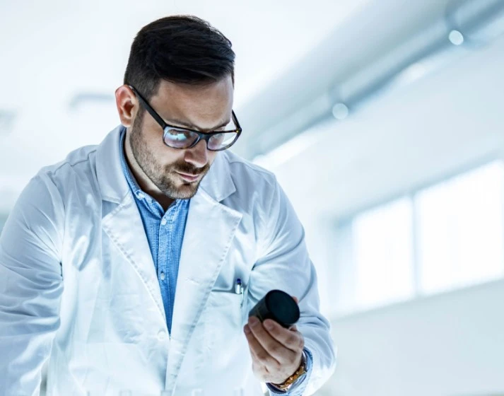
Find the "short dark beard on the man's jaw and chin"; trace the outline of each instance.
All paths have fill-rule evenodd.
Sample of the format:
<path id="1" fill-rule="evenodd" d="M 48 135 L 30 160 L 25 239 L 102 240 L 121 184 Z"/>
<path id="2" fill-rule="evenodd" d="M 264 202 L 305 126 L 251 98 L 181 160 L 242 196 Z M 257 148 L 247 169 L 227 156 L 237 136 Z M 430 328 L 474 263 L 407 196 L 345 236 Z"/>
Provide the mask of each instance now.
<path id="1" fill-rule="evenodd" d="M 137 114 L 131 127 L 130 146 L 136 163 L 138 163 L 143 173 L 151 180 L 170 199 L 189 199 L 194 197 L 198 192 L 199 184 L 210 169 L 207 163 L 203 168 L 197 168 L 190 163 L 182 161 L 180 163 L 172 163 L 170 165 L 160 165 L 156 162 L 155 156 L 151 152 L 143 139 L 141 125 L 145 110 L 141 114 Z M 161 136 L 160 136 L 161 137 Z M 202 177 L 195 183 L 183 183 L 177 187 L 177 179 L 179 176 L 175 172 L 186 173 L 189 175 L 203 174 Z"/>

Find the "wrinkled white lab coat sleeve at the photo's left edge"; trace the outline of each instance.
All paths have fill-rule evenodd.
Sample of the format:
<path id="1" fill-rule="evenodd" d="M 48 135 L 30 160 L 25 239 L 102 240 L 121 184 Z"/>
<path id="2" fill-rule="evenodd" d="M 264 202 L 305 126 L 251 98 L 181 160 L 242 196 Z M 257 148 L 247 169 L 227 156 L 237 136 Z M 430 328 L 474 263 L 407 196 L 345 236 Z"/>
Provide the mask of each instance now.
<path id="1" fill-rule="evenodd" d="M 21 192 L 0 235 L 0 395 L 39 395 L 59 327 L 64 208 L 48 175 Z"/>

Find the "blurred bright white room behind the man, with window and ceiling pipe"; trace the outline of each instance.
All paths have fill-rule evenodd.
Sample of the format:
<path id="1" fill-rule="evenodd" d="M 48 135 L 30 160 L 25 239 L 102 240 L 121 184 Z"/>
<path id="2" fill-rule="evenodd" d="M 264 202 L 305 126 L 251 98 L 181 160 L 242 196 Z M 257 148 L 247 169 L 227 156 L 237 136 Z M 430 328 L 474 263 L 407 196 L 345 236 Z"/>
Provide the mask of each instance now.
<path id="1" fill-rule="evenodd" d="M 233 42 L 234 151 L 305 226 L 338 367 L 317 395 L 504 395 L 504 0 L 0 0 L 0 230 L 119 124 L 147 23 Z"/>

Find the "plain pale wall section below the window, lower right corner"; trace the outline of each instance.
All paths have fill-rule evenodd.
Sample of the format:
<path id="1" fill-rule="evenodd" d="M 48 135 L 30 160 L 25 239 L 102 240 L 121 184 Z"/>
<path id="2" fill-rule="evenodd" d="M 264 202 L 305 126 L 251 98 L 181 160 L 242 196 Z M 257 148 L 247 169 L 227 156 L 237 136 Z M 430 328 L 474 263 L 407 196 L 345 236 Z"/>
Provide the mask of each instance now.
<path id="1" fill-rule="evenodd" d="M 495 281 L 334 321 L 320 395 L 504 395 L 503 301 Z"/>

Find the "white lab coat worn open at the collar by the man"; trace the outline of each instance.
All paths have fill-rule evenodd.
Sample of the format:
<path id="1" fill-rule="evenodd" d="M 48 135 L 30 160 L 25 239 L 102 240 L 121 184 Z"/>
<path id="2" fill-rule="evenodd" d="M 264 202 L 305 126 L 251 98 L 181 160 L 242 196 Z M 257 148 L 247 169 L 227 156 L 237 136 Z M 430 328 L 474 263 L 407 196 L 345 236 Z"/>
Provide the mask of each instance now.
<path id="1" fill-rule="evenodd" d="M 270 289 L 300 298 L 298 329 L 314 359 L 305 394 L 315 392 L 334 369 L 334 349 L 303 228 L 274 175 L 218 153 L 189 206 L 168 334 L 119 131 L 42 168 L 8 217 L 0 394 L 38 395 L 47 361 L 52 396 L 262 395 L 242 327 Z"/>

